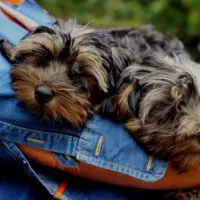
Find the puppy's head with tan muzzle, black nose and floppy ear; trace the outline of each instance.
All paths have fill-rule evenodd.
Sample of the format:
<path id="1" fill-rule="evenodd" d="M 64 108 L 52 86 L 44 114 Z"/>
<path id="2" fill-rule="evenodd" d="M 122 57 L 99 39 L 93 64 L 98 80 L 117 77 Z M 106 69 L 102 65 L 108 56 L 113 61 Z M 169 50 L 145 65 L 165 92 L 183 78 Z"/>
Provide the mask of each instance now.
<path id="1" fill-rule="evenodd" d="M 17 97 L 42 117 L 65 118 L 79 127 L 87 118 L 92 93 L 107 92 L 108 40 L 72 21 L 36 28 L 12 51 Z"/>

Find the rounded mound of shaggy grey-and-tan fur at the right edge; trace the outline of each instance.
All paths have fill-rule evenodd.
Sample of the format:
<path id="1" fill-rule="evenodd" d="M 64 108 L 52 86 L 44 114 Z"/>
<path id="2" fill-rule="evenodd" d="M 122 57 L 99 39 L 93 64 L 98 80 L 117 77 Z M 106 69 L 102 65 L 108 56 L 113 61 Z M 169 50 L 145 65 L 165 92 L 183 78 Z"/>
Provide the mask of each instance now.
<path id="1" fill-rule="evenodd" d="M 127 126 L 150 151 L 167 158 L 200 153 L 200 65 L 149 55 L 125 69 L 120 87 L 122 110 L 140 119 Z"/>

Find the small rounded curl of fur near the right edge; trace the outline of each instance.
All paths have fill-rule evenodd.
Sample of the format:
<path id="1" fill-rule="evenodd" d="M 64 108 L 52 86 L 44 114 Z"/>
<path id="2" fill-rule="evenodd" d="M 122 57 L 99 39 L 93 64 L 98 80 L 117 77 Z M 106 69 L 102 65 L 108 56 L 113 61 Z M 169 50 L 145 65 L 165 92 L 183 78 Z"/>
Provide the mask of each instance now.
<path id="1" fill-rule="evenodd" d="M 187 101 L 188 95 L 194 93 L 193 79 L 189 73 L 180 74 L 171 88 L 171 97 L 175 101 Z"/>

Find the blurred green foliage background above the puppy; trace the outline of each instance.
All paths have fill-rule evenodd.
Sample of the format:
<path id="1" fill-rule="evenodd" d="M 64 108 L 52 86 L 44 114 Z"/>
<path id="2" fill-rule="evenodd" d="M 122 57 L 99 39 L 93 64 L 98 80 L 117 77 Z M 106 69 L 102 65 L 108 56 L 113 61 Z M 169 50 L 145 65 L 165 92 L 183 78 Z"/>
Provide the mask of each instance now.
<path id="1" fill-rule="evenodd" d="M 37 0 L 49 14 L 94 27 L 153 24 L 200 60 L 200 0 Z"/>

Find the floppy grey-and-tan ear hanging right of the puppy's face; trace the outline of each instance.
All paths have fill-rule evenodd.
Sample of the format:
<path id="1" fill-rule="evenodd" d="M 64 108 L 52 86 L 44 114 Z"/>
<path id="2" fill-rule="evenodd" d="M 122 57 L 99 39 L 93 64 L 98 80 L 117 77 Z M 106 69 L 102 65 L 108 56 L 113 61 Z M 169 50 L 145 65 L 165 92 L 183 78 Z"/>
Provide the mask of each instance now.
<path id="1" fill-rule="evenodd" d="M 74 38 L 74 49 L 78 53 L 73 62 L 72 72 L 83 77 L 82 82 L 86 89 L 108 92 L 108 83 L 111 82 L 108 71 L 112 69 L 116 56 L 111 47 L 114 47 L 115 43 L 106 32 L 90 29 L 88 33 L 86 29 L 81 38 Z"/>

